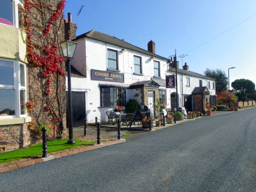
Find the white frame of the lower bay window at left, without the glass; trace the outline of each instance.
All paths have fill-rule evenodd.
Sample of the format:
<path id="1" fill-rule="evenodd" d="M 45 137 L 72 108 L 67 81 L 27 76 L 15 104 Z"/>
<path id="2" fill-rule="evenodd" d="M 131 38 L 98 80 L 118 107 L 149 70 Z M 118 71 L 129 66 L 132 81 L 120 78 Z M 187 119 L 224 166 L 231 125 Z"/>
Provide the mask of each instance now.
<path id="1" fill-rule="evenodd" d="M 2 61 L 11 61 L 13 63 L 13 85 L 1 85 L 0 89 L 14 89 L 14 102 L 15 102 L 15 115 L 0 115 L 0 119 L 8 119 L 8 118 L 18 118 L 18 117 L 26 117 L 27 116 L 27 110 L 25 108 L 25 114 L 20 114 L 20 90 L 25 91 L 25 97 L 24 102 L 27 102 L 27 85 L 26 85 L 26 65 L 20 61 L 12 60 L 12 59 L 4 59 L 0 58 Z M 24 65 L 24 83 L 25 86 L 20 85 L 20 64 Z"/>

